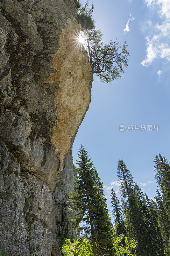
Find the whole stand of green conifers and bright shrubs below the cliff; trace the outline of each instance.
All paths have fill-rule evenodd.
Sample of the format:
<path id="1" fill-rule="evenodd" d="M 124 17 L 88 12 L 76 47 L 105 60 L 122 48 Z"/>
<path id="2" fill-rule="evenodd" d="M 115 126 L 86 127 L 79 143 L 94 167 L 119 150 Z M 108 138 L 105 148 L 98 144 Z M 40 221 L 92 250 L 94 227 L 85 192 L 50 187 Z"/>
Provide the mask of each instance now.
<path id="1" fill-rule="evenodd" d="M 80 224 L 81 237 L 73 243 L 67 241 L 63 255 L 169 256 L 170 165 L 167 160 L 160 154 L 154 159 L 159 185 L 155 200 L 144 195 L 127 165 L 121 159 L 118 161 L 121 202 L 111 188 L 113 226 L 103 183 L 82 145 L 78 157 L 74 192 L 70 199 L 71 207 L 77 211 L 74 222 L 76 227 Z"/>

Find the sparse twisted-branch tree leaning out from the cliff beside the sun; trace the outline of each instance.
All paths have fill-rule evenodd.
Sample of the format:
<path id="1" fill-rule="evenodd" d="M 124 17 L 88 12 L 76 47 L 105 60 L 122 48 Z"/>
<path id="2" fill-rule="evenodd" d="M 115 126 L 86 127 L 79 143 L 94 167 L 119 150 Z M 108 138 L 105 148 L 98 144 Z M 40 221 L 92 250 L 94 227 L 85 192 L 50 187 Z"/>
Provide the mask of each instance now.
<path id="1" fill-rule="evenodd" d="M 101 82 L 111 83 L 114 79 L 121 78 L 124 67 L 128 66 L 129 52 L 124 42 L 121 47 L 116 40 L 103 44 L 102 31 L 93 29 L 85 33 L 87 48 L 93 72 L 99 76 Z"/>

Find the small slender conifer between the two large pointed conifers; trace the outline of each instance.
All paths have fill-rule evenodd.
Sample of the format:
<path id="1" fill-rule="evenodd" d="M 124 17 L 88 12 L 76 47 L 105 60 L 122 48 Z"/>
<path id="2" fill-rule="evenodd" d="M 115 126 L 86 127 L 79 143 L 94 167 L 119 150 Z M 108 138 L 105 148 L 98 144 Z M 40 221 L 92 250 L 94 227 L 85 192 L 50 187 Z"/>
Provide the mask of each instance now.
<path id="1" fill-rule="evenodd" d="M 111 207 L 112 207 L 112 214 L 115 217 L 115 224 L 116 226 L 116 233 L 117 236 L 124 234 L 126 236 L 125 230 L 125 223 L 124 223 L 124 216 L 122 209 L 120 207 L 120 201 L 118 200 L 116 193 L 113 188 L 111 188 Z"/>

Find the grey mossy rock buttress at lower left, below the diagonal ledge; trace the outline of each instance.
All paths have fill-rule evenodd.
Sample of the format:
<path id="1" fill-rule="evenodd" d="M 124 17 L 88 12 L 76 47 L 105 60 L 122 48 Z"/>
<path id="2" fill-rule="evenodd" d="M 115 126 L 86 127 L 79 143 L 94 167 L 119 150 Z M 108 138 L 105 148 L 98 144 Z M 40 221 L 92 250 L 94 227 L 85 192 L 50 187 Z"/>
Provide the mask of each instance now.
<path id="1" fill-rule="evenodd" d="M 51 255 L 52 195 L 45 182 L 20 170 L 0 140 L 0 246 L 8 255 Z"/>

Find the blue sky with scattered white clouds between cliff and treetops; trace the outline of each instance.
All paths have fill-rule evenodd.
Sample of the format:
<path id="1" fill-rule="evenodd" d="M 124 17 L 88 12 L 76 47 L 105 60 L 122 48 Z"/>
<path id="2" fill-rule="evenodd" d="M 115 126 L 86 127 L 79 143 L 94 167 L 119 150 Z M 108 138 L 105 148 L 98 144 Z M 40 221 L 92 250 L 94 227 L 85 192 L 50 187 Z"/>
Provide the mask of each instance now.
<path id="1" fill-rule="evenodd" d="M 160 153 L 170 161 L 170 1 L 93 3 L 93 19 L 103 31 L 103 42 L 115 37 L 120 44 L 126 40 L 130 52 L 122 79 L 105 84 L 94 75 L 89 111 L 73 144 L 74 163 L 81 144 L 88 150 L 110 209 L 111 185 L 118 195 L 119 158 L 150 198 L 157 187 L 153 159 Z M 120 132 L 120 124 L 159 125 L 159 129 Z"/>

